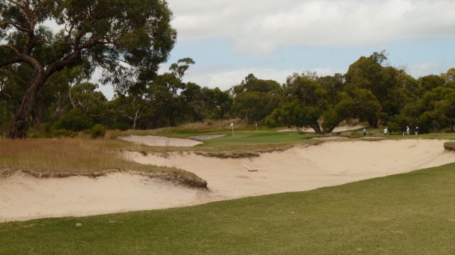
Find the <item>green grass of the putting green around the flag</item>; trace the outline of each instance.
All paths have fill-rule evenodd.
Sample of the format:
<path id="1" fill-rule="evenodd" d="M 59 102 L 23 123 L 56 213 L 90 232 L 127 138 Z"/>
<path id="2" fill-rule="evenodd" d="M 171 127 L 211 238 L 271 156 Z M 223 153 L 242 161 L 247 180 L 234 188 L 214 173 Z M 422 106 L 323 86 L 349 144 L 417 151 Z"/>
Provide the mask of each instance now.
<path id="1" fill-rule="evenodd" d="M 258 152 L 286 149 L 294 145 L 317 144 L 319 141 L 308 140 L 314 134 L 299 135 L 297 132 L 277 132 L 259 126 L 257 132 L 255 125 L 239 123 L 236 125 L 234 136 L 229 128 L 233 120 L 214 121 L 213 124 L 191 123 L 175 128 L 160 128 L 156 130 L 127 130 L 124 132 L 111 132 L 108 136 L 119 137 L 127 135 L 162 135 L 167 137 L 188 137 L 191 135 L 225 135 L 215 139 L 204 140 L 202 145 L 196 147 L 142 147 L 144 152 L 197 152 L 210 156 L 210 154 L 232 157 L 232 155 L 252 155 Z M 210 123 L 210 122 L 209 122 Z M 235 157 L 237 157 L 235 156 Z"/>

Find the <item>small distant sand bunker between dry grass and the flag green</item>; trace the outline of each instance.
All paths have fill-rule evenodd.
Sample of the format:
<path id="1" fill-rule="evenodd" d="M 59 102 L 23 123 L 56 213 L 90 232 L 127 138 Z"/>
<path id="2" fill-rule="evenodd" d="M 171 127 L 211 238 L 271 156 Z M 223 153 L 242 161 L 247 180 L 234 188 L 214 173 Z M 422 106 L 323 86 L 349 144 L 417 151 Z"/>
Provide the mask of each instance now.
<path id="1" fill-rule="evenodd" d="M 192 139 L 162 137 L 155 135 L 129 135 L 127 137 L 119 137 L 119 139 L 148 146 L 193 147 L 203 143 Z"/>

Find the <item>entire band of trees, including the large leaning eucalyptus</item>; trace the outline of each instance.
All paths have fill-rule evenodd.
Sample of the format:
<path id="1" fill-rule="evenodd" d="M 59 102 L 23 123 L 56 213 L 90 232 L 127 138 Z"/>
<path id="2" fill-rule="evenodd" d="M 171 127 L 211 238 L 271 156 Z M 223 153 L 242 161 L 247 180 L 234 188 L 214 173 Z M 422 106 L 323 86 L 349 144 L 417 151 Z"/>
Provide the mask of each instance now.
<path id="1" fill-rule="evenodd" d="M 358 119 L 400 132 L 454 130 L 455 69 L 414 79 L 373 52 L 346 74 L 290 74 L 286 83 L 248 74 L 221 91 L 183 82 L 195 62 L 158 74 L 176 42 L 166 1 L 0 2 L 0 132 L 25 138 L 80 130 L 151 129 L 207 119 L 331 132 Z M 51 28 L 50 24 L 57 28 Z M 117 94 L 87 82 L 97 70 Z"/>

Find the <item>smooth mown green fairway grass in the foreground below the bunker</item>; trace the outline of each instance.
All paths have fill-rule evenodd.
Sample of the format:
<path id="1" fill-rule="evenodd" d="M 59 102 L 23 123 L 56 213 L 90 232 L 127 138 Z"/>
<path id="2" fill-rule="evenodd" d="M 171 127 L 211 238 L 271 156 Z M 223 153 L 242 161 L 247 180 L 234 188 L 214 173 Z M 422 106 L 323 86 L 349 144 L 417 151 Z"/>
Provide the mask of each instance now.
<path id="1" fill-rule="evenodd" d="M 449 164 L 187 208 L 7 222 L 0 254 L 455 254 L 454 179 Z"/>

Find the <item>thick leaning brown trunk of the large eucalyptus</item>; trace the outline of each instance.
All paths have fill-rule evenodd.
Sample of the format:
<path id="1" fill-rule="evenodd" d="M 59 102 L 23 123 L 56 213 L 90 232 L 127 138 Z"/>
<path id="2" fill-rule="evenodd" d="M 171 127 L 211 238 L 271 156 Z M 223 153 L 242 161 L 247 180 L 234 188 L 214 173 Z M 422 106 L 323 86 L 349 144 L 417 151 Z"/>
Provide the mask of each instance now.
<path id="1" fill-rule="evenodd" d="M 25 139 L 27 137 L 28 121 L 30 120 L 31 111 L 35 105 L 36 98 L 38 98 L 38 91 L 44 84 L 44 81 L 45 77 L 43 72 L 38 72 L 38 74 L 31 79 L 31 84 L 23 95 L 21 106 L 18 108 L 7 137 L 11 139 Z"/>

